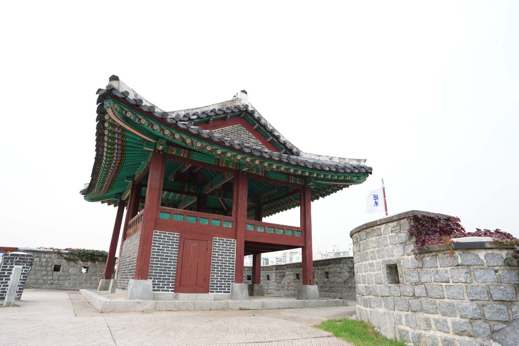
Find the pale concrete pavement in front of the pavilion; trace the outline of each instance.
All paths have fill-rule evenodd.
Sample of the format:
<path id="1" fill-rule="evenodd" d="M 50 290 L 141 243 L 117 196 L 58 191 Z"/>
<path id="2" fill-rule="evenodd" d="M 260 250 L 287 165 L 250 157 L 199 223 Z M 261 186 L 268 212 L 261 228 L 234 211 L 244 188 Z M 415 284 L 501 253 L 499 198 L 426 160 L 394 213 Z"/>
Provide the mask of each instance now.
<path id="1" fill-rule="evenodd" d="M 354 305 L 315 309 L 100 314 L 77 291 L 25 289 L 0 308 L 0 345 L 350 346 L 312 326 L 354 314 Z"/>

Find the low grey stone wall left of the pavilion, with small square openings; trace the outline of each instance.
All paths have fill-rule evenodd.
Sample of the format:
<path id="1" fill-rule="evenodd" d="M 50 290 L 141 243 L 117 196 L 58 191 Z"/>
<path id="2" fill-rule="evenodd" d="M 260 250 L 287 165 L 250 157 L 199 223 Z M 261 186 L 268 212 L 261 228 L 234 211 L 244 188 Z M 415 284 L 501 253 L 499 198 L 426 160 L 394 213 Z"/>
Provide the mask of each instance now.
<path id="1" fill-rule="evenodd" d="M 21 248 L 19 251 L 34 256 L 25 283 L 27 288 L 95 289 L 103 276 L 105 262 L 73 262 L 48 249 Z M 55 266 L 60 266 L 59 270 Z M 88 272 L 82 272 L 84 267 L 88 267 Z"/>

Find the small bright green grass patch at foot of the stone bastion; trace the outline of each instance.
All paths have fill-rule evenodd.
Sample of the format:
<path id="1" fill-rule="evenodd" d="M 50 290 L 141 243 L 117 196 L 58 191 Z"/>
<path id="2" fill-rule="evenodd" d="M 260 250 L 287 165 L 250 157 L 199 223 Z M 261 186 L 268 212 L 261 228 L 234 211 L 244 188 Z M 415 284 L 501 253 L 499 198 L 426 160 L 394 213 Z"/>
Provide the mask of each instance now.
<path id="1" fill-rule="evenodd" d="M 316 325 L 355 346 L 405 346 L 404 342 L 381 336 L 372 325 L 351 319 L 328 320 Z"/>

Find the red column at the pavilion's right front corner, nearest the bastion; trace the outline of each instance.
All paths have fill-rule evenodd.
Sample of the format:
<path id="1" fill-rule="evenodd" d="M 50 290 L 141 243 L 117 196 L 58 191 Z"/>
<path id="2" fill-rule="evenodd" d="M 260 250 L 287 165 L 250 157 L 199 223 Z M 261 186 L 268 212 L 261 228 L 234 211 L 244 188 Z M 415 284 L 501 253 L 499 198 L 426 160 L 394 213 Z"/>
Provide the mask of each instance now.
<path id="1" fill-rule="evenodd" d="M 301 189 L 301 227 L 305 237 L 305 246 L 302 248 L 303 285 L 313 285 L 312 210 L 309 186 Z"/>

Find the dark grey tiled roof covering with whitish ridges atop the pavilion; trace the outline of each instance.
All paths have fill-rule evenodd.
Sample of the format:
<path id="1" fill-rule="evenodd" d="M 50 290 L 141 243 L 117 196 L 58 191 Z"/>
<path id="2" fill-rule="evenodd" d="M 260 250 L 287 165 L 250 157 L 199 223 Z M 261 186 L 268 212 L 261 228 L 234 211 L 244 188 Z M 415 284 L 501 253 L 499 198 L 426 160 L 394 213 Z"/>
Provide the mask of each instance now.
<path id="1" fill-rule="evenodd" d="M 108 94 L 112 94 L 117 98 L 126 101 L 130 105 L 139 107 L 145 113 L 152 114 L 156 118 L 165 120 L 172 127 L 187 130 L 196 135 L 210 139 L 218 144 L 234 147 L 236 149 L 243 150 L 245 153 L 251 153 L 258 157 L 289 162 L 291 164 L 297 164 L 302 167 L 323 171 L 339 173 L 372 173 L 372 168 L 364 165 L 365 160 L 363 159 L 345 159 L 303 153 L 291 142 L 286 140 L 284 136 L 282 136 L 274 127 L 270 125 L 267 120 L 265 120 L 264 117 L 261 116 L 261 114 L 256 111 L 256 109 L 248 102 L 247 93 L 244 91 L 241 91 L 240 96 L 235 97 L 233 100 L 224 101 L 205 107 L 176 110 L 173 112 L 166 112 L 153 103 L 147 101 L 133 89 L 124 84 L 124 82 L 120 81 L 119 77 L 117 76 L 110 77 L 110 82 L 106 88 L 99 89 L 97 94 L 99 95 L 98 103 L 101 103 Z M 245 112 L 250 114 L 256 121 L 258 121 L 258 123 L 260 123 L 265 129 L 272 133 L 272 135 L 274 135 L 288 149 L 287 151 L 289 151 L 289 154 L 283 154 L 265 149 L 264 147 L 256 146 L 254 144 L 244 143 L 243 141 L 217 134 L 211 130 L 204 130 L 199 126 L 194 126 L 194 124 L 190 122 L 196 119 L 203 119 L 207 117 L 238 112 Z"/>

